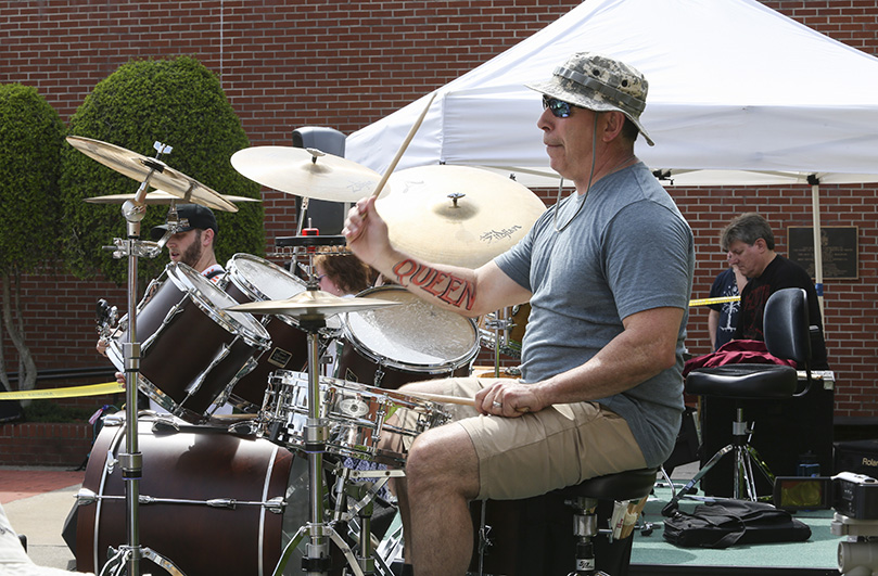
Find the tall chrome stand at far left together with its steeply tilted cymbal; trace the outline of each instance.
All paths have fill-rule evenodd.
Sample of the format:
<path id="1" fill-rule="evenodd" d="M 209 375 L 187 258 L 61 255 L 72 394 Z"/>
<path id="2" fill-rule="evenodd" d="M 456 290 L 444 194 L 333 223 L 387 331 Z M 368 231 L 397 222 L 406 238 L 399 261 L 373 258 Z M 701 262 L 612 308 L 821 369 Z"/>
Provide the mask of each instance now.
<path id="1" fill-rule="evenodd" d="M 234 204 L 222 200 L 217 192 L 201 184 L 196 180 L 178 172 L 163 163 L 160 158 L 163 154 L 171 152 L 171 146 L 155 142 L 153 148 L 156 151 L 154 158 L 141 156 L 120 146 L 84 138 L 68 136 L 66 141 L 97 162 L 122 172 L 129 178 L 139 180 L 138 188 L 132 200 L 126 200 L 122 206 L 122 213 L 127 225 L 127 238 L 114 239 L 114 257 L 128 259 L 128 331 L 127 338 L 123 345 L 124 369 L 126 381 L 139 382 L 140 372 L 140 343 L 137 340 L 137 265 L 141 256 L 154 257 L 161 252 L 161 246 L 155 243 L 145 243 L 140 240 L 140 223 L 145 216 L 144 199 L 148 188 L 153 182 L 158 182 L 163 189 L 171 194 L 178 195 L 188 202 L 196 202 L 222 210 L 237 212 Z M 127 543 L 119 548 L 117 564 L 109 568 L 109 573 L 116 574 L 123 569 L 128 576 L 140 576 L 140 559 L 144 553 L 158 560 L 163 565 L 171 566 L 176 574 L 181 574 L 174 564 L 155 553 L 144 549 L 140 545 L 139 528 L 139 503 L 140 503 L 140 478 L 143 472 L 142 455 L 138 449 L 138 411 L 137 411 L 137 385 L 126 387 L 126 450 L 119 455 L 123 477 L 125 479 L 125 503 Z M 107 571 L 104 571 L 107 572 Z"/>

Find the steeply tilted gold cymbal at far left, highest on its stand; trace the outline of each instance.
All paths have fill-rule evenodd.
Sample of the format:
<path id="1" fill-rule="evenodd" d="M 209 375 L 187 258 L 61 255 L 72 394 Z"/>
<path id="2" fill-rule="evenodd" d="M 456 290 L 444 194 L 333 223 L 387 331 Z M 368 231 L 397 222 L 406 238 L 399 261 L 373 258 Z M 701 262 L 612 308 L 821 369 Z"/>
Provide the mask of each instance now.
<path id="1" fill-rule="evenodd" d="M 81 136 L 68 136 L 67 142 L 86 156 L 137 181 L 142 182 L 153 167 L 161 168 L 161 171 L 156 169 L 152 172 L 150 187 L 164 190 L 186 202 L 201 204 L 208 208 L 238 212 L 238 206 L 225 200 L 218 192 L 182 172 L 178 172 L 162 161 L 143 156 L 109 142 Z"/>

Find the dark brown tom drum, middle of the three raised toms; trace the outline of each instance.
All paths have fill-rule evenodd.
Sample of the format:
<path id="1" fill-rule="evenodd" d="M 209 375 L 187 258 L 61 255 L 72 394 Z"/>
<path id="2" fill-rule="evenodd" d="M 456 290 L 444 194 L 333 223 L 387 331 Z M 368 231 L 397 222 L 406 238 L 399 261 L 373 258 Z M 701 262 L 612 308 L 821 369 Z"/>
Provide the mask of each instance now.
<path id="1" fill-rule="evenodd" d="M 226 292 L 241 304 L 282 300 L 306 289 L 305 283 L 266 259 L 250 254 L 236 254 L 226 265 Z M 262 322 L 271 336 L 271 348 L 256 367 L 236 383 L 230 401 L 253 412 L 262 406 L 268 375 L 278 369 L 304 370 L 308 362 L 308 335 L 300 330 L 292 316 L 265 315 Z"/>

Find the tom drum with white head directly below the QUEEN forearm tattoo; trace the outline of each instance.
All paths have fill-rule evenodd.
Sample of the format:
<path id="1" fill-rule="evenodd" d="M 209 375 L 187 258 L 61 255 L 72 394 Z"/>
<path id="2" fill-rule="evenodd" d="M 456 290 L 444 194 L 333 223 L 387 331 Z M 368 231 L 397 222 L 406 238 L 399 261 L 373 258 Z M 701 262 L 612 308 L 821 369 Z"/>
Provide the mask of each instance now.
<path id="1" fill-rule="evenodd" d="M 395 389 L 419 380 L 469 375 L 479 354 L 473 320 L 433 306 L 402 286 L 373 287 L 357 296 L 403 304 L 345 315 L 336 376 Z"/>

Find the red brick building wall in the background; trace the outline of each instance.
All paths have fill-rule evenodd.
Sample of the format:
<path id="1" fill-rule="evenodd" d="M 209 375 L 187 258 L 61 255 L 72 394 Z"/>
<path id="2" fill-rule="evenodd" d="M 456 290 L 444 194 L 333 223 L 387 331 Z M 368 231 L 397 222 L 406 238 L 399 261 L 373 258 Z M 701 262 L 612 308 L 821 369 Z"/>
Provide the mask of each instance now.
<path id="1" fill-rule="evenodd" d="M 878 54 L 878 7 L 873 0 L 763 3 Z M 251 144 L 289 145 L 291 131 L 301 126 L 331 126 L 349 133 L 374 121 L 577 4 L 575 0 L 0 0 L 0 82 L 36 86 L 66 120 L 98 81 L 129 59 L 191 54 L 220 75 Z M 815 90 L 843 89 L 827 82 L 824 72 L 814 71 Z M 876 187 L 822 189 L 823 225 L 860 227 L 860 279 L 826 282 L 837 414 L 878 418 L 873 351 L 878 328 Z M 775 227 L 781 253 L 788 226 L 811 225 L 807 187 L 672 193 L 696 231 L 695 297 L 707 296 L 723 266 L 716 234 L 731 216 L 763 213 Z M 294 233 L 294 200 L 273 192 L 265 193 L 264 200 L 269 242 Z M 101 363 L 93 353 L 92 321 L 100 297 L 125 306 L 124 291 L 107 283 L 54 274 L 28 279 L 27 337 L 41 368 Z M 687 344 L 694 354 L 708 351 L 705 315 L 704 309 L 692 310 Z M 5 343 L 14 369 L 10 348 Z"/>

